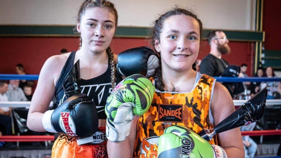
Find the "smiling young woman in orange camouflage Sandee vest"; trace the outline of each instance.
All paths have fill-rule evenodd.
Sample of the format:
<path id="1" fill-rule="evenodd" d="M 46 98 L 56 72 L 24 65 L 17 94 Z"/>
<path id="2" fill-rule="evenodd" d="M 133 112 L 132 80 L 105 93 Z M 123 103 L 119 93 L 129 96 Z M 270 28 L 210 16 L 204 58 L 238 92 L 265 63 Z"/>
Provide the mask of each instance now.
<path id="1" fill-rule="evenodd" d="M 235 110 L 223 85 L 194 70 L 202 31 L 194 13 L 177 7 L 155 21 L 151 43 L 161 60 L 151 78 L 152 104 L 135 116 L 124 140 L 107 142 L 109 157 L 244 157 L 239 128 L 209 142 L 196 134 Z"/>

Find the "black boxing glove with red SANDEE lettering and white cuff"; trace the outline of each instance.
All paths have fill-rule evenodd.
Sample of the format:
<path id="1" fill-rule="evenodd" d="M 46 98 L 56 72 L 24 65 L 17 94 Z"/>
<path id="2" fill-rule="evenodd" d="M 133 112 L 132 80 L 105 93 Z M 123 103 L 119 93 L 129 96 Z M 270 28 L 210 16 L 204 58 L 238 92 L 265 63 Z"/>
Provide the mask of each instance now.
<path id="1" fill-rule="evenodd" d="M 42 117 L 45 130 L 75 138 L 87 138 L 98 129 L 95 103 L 86 94 L 73 95 L 55 110 L 48 110 Z"/>

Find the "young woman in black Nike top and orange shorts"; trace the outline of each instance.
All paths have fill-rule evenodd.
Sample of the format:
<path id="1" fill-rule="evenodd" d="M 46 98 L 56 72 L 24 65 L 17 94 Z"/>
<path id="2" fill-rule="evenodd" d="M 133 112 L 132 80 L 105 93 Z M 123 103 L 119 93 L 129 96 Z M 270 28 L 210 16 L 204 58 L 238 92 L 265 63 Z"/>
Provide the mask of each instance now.
<path id="1" fill-rule="evenodd" d="M 28 114 L 28 127 L 31 130 L 38 132 L 47 130 L 44 123 L 42 125 L 42 117 L 53 96 L 56 97 L 58 106 L 66 100 L 62 83 L 78 60 L 80 60 L 81 91 L 95 103 L 98 115 L 99 129 L 89 137 L 92 140 L 82 141 L 78 145 L 76 138 L 61 134 L 54 142 L 52 157 L 108 157 L 104 106 L 115 84 L 122 80 L 116 73 L 117 56 L 113 54 L 109 46 L 117 21 L 117 11 L 111 2 L 84 1 L 78 11 L 75 28 L 75 31 L 80 34 L 80 48 L 63 55 L 52 56 L 42 67 Z M 84 122 L 81 121 L 81 123 Z"/>

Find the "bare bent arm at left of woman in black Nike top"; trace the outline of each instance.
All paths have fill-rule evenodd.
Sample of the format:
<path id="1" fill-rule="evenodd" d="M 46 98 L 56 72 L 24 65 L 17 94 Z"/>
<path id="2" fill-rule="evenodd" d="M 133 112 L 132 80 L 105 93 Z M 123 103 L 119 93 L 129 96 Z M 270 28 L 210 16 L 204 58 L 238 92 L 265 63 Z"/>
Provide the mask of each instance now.
<path id="1" fill-rule="evenodd" d="M 46 131 L 42 125 L 42 117 L 44 112 L 48 110 L 49 104 L 54 96 L 54 78 L 57 76 L 59 69 L 61 70 L 60 64 L 59 57 L 52 56 L 47 59 L 41 69 L 37 87 L 28 111 L 27 126 L 30 130 L 37 132 Z"/>

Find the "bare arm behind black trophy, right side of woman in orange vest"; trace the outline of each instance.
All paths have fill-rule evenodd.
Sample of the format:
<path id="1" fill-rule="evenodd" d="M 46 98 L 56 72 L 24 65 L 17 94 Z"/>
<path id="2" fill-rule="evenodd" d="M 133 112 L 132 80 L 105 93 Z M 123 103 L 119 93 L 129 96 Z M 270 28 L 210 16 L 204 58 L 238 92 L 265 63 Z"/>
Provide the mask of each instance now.
<path id="1" fill-rule="evenodd" d="M 233 100 L 227 89 L 216 82 L 211 100 L 211 111 L 214 123 L 217 125 L 235 111 Z M 229 158 L 244 158 L 244 147 L 240 128 L 234 128 L 218 134 L 220 146 Z"/>

